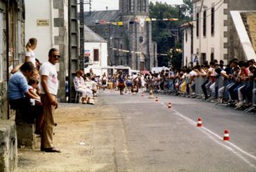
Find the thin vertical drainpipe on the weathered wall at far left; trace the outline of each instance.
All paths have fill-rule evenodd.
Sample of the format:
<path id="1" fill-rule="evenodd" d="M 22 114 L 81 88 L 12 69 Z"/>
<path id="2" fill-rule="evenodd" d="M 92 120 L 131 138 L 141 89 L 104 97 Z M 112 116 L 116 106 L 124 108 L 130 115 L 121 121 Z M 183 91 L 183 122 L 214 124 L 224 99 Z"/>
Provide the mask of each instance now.
<path id="1" fill-rule="evenodd" d="M 9 5 L 10 1 L 6 0 L 6 82 L 9 82 Z M 7 103 L 7 119 L 10 119 L 9 104 Z"/>

